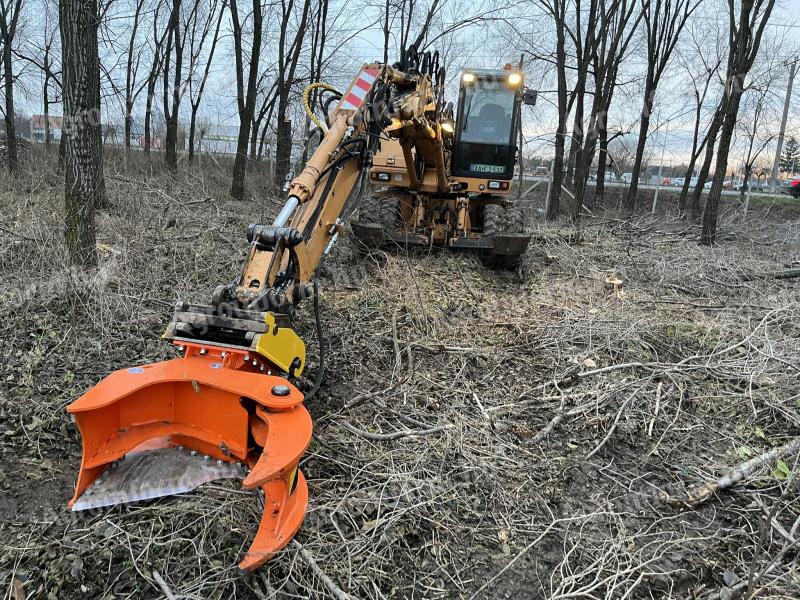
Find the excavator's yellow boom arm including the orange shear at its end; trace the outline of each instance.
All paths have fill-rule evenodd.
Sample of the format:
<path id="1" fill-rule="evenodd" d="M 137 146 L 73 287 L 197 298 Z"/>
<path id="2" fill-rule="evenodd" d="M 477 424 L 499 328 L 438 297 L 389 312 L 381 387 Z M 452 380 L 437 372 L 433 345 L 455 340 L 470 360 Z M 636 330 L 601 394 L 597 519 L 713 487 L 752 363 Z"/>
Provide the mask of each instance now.
<path id="1" fill-rule="evenodd" d="M 208 305 L 176 307 L 164 338 L 179 358 L 114 372 L 69 405 L 83 441 L 73 510 L 233 477 L 265 498 L 240 567 L 257 568 L 292 539 L 308 503 L 299 462 L 312 432 L 295 385 L 306 353 L 292 314 L 315 294 L 318 267 L 358 204 L 381 136 L 413 156 L 410 178 L 424 160 L 448 185 L 444 72 L 428 60 L 361 68 L 278 216 L 248 227 L 239 279 L 219 286 Z"/>

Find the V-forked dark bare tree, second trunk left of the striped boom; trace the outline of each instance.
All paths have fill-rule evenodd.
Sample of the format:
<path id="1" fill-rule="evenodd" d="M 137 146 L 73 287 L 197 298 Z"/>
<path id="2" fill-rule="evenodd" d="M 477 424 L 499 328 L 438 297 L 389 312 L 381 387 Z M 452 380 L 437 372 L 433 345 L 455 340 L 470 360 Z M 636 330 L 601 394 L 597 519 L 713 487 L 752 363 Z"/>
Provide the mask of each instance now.
<path id="1" fill-rule="evenodd" d="M 236 159 L 233 163 L 231 196 L 244 200 L 244 177 L 247 173 L 247 143 L 256 107 L 258 86 L 258 62 L 261 55 L 261 36 L 263 15 L 260 0 L 253 0 L 249 15 L 241 14 L 237 0 L 230 0 L 231 25 L 233 27 L 234 58 L 236 60 L 236 107 L 239 112 L 239 139 L 236 144 Z M 252 39 L 250 45 L 249 70 L 245 82 L 245 57 L 243 44 L 243 21 L 252 18 Z"/>

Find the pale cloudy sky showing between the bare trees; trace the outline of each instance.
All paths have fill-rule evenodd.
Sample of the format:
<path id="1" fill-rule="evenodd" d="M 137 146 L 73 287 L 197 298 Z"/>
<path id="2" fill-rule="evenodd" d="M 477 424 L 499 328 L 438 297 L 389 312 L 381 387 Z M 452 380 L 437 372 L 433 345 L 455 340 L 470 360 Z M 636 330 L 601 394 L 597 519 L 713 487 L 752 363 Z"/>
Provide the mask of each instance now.
<path id="1" fill-rule="evenodd" d="M 457 1 L 457 0 L 456 0 Z M 485 0 L 491 1 L 491 0 Z M 706 1 L 706 0 L 704 0 Z M 711 2 L 711 0 L 707 0 Z M 349 6 L 356 6 L 347 3 Z M 378 3 L 382 5 L 381 3 Z M 461 12 L 448 12 L 449 6 L 458 6 L 451 0 L 446 4 L 445 12 L 442 14 L 442 21 L 447 24 L 453 20 L 463 18 Z M 480 10 L 480 3 L 466 4 L 471 10 Z M 461 9 L 463 11 L 463 9 Z M 383 32 L 379 21 L 380 9 L 377 4 L 369 8 L 366 4 L 363 10 L 344 15 L 342 20 L 336 24 L 340 34 L 349 39 L 344 47 L 339 50 L 337 59 L 332 69 L 326 73 L 326 79 L 337 86 L 347 85 L 350 73 L 357 71 L 361 62 L 371 62 L 381 59 L 383 55 Z M 508 11 L 504 11 L 504 17 L 508 17 Z M 706 14 L 704 19 L 713 18 Z M 718 17 L 720 25 L 727 26 L 727 15 L 724 13 Z M 374 26 L 365 28 L 370 22 L 376 22 Z M 440 24 L 441 26 L 441 24 Z M 502 67 L 506 62 L 516 63 L 519 60 L 519 51 L 514 49 L 511 44 L 503 43 L 504 34 L 499 26 L 478 25 L 467 27 L 449 40 L 446 54 L 449 54 L 450 64 L 448 66 L 448 98 L 456 99 L 458 72 L 463 66 L 473 68 L 497 68 Z M 363 29 L 363 30 L 362 30 Z M 789 43 L 793 43 L 795 50 L 800 51 L 800 0 L 778 0 L 778 7 L 771 18 L 769 26 L 771 32 L 781 34 Z M 209 82 L 208 93 L 204 99 L 203 115 L 212 122 L 224 125 L 235 125 L 238 123 L 236 116 L 235 96 L 233 95 L 234 80 L 230 69 L 230 50 L 231 43 L 228 39 L 218 50 L 219 58 L 212 80 Z M 615 97 L 612 113 L 609 115 L 609 126 L 611 129 L 631 132 L 625 135 L 623 142 L 635 146 L 636 132 L 638 131 L 638 115 L 641 110 L 641 93 L 637 86 L 641 79 L 643 61 L 641 60 L 641 49 L 634 48 L 623 71 L 620 79 L 626 79 L 628 83 L 620 88 Z M 786 58 L 789 58 L 788 56 Z M 390 60 L 394 60 L 391 57 Z M 689 65 L 689 69 L 692 65 Z M 529 155 L 552 153 L 553 132 L 557 113 L 554 110 L 555 97 L 552 93 L 555 83 L 552 77 L 552 70 L 545 70 L 535 64 L 529 65 L 528 81 L 529 86 L 541 91 L 540 101 L 535 109 L 526 108 L 524 114 L 524 132 L 526 138 L 525 152 Z M 788 72 L 788 69 L 786 69 Z M 693 114 L 691 107 L 690 88 L 687 88 L 686 69 L 681 69 L 677 65 L 671 67 L 671 75 L 667 77 L 657 98 L 656 114 L 653 118 L 652 132 L 650 136 L 650 151 L 660 158 L 664 156 L 665 163 L 677 164 L 686 158 L 688 149 L 691 147 L 693 134 Z M 779 113 L 785 95 L 785 75 L 781 80 L 776 76 L 772 84 L 774 88 L 770 94 L 770 110 L 772 113 Z M 22 94 L 18 101 L 18 107 L 27 114 L 41 112 L 40 93 L 35 91 L 35 84 L 28 86 L 29 93 Z M 184 110 L 188 108 L 188 101 L 183 103 Z M 746 109 L 747 107 L 745 107 Z M 790 133 L 796 132 L 800 135 L 800 77 L 795 84 L 795 93 L 790 113 L 788 130 Z M 51 112 L 58 112 L 54 108 Z M 770 122 L 765 125 L 764 136 L 775 135 L 779 122 L 779 115 L 769 114 L 762 118 Z M 118 107 L 109 105 L 106 115 L 109 119 L 120 117 Z M 188 115 L 187 115 L 188 116 Z M 746 119 L 746 116 L 745 116 Z M 765 149 L 765 153 L 769 148 Z"/>

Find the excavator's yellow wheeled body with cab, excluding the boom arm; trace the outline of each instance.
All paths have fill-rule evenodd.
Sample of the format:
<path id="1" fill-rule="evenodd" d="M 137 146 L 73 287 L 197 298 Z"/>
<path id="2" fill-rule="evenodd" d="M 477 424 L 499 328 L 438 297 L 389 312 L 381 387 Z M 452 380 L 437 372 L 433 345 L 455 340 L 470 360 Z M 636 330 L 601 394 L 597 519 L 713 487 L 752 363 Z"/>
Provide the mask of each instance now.
<path id="1" fill-rule="evenodd" d="M 531 236 L 511 184 L 521 107 L 535 103 L 536 92 L 511 65 L 463 71 L 455 111 L 452 104 L 430 105 L 438 125 L 432 144 L 381 141 L 372 197 L 352 223 L 355 236 L 366 247 L 472 249 L 489 266 L 517 269 Z"/>

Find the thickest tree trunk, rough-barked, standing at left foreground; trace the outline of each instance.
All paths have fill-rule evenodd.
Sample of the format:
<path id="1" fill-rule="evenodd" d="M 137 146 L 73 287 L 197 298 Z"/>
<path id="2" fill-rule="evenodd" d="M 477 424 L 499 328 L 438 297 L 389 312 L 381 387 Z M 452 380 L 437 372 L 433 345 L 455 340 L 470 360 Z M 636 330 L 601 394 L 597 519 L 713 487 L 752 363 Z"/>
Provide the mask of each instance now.
<path id="1" fill-rule="evenodd" d="M 67 249 L 74 264 L 96 264 L 95 207 L 105 202 L 97 0 L 61 0 Z"/>

